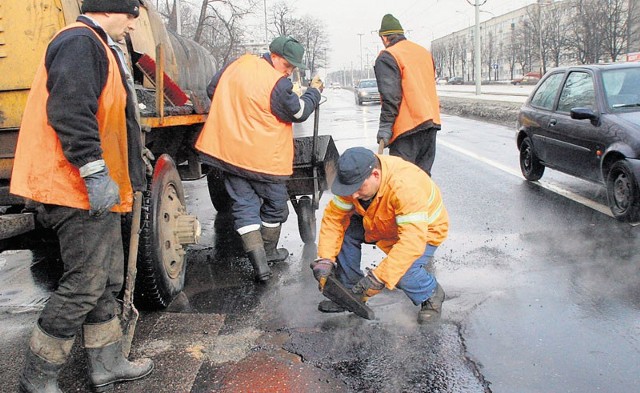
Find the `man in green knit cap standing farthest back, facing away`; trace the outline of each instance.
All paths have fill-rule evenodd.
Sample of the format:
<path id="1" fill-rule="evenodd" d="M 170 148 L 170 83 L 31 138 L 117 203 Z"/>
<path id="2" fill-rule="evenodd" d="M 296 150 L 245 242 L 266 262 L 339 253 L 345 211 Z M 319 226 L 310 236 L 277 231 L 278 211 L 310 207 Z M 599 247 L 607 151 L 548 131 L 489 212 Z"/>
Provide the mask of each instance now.
<path id="1" fill-rule="evenodd" d="M 431 176 L 440 129 L 433 56 L 407 40 L 391 14 L 382 18 L 378 34 L 385 47 L 374 65 L 381 101 L 378 142 Z"/>

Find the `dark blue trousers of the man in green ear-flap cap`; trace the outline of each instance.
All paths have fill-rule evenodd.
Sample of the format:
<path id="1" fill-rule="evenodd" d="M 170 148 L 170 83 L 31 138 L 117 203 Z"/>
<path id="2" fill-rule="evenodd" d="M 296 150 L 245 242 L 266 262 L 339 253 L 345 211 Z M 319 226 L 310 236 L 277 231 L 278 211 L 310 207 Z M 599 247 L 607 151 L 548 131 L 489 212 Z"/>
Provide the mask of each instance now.
<path id="1" fill-rule="evenodd" d="M 289 193 L 285 183 L 250 180 L 226 173 L 224 186 L 231 197 L 231 213 L 236 231 L 261 225 L 262 222 L 277 224 L 287 221 Z"/>

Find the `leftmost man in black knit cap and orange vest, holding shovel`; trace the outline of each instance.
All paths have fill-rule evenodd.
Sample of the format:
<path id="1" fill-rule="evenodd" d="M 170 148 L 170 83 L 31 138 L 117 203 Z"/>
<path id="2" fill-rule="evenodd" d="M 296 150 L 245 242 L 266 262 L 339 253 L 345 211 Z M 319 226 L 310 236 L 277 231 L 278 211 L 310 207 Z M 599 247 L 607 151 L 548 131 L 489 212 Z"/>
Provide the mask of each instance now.
<path id="1" fill-rule="evenodd" d="M 40 313 L 20 377 L 23 392 L 60 392 L 78 330 L 97 391 L 142 378 L 151 359 L 122 353 L 117 296 L 124 278 L 121 216 L 146 188 L 133 78 L 117 42 L 138 0 L 84 0 L 42 58 L 20 125 L 11 193 L 56 231 L 64 273 Z"/>

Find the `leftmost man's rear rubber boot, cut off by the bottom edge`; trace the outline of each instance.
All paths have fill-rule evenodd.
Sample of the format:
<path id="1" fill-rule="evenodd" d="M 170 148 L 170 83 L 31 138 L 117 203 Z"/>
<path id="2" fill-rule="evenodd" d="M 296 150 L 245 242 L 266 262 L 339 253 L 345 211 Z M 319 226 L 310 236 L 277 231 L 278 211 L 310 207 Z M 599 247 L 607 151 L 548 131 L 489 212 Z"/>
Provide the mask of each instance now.
<path id="1" fill-rule="evenodd" d="M 20 391 L 62 393 L 58 386 L 58 374 L 69 357 L 73 341 L 74 338 L 61 339 L 50 336 L 36 325 L 20 376 Z"/>

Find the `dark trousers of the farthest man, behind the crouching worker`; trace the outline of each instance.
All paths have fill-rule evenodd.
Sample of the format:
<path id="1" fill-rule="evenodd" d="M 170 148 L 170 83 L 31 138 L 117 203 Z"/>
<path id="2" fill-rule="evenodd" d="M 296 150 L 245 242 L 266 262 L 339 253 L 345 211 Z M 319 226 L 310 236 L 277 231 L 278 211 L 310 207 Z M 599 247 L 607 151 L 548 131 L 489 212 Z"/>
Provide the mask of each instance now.
<path id="1" fill-rule="evenodd" d="M 436 128 L 429 128 L 400 136 L 389 145 L 389 155 L 412 162 L 431 176 L 431 167 L 436 158 Z"/>

